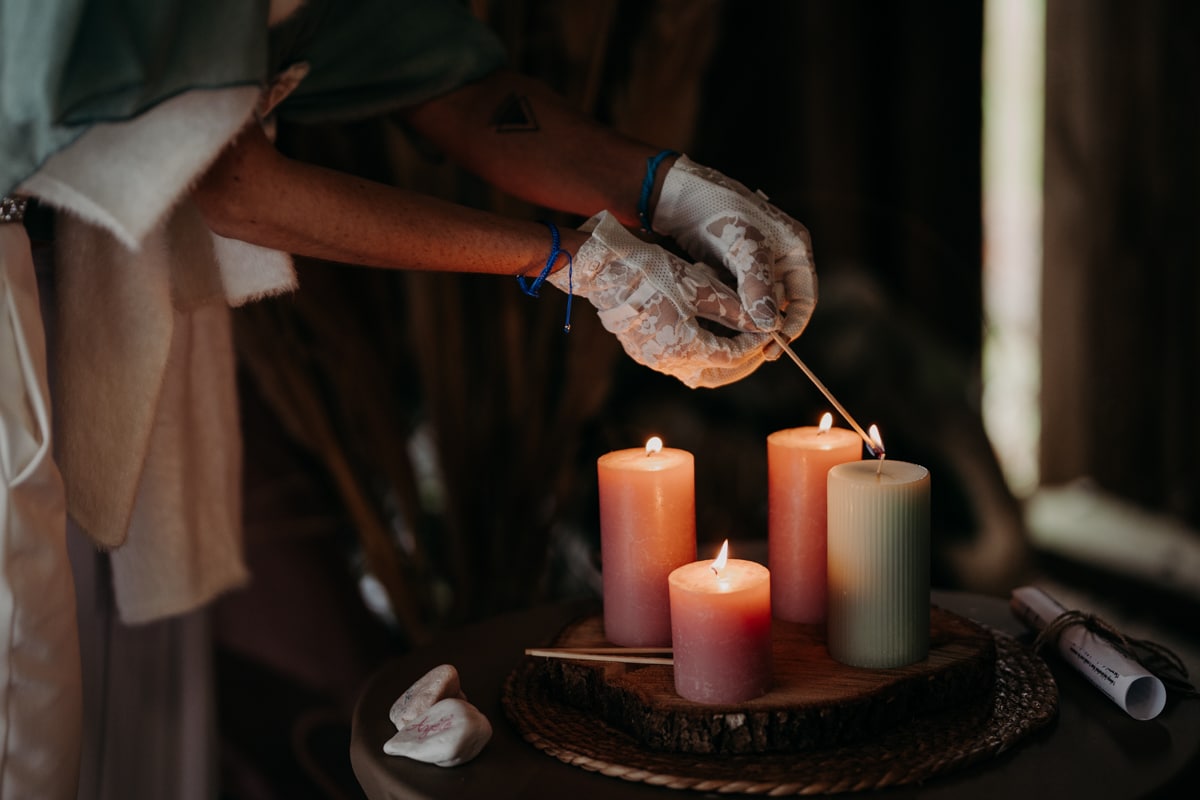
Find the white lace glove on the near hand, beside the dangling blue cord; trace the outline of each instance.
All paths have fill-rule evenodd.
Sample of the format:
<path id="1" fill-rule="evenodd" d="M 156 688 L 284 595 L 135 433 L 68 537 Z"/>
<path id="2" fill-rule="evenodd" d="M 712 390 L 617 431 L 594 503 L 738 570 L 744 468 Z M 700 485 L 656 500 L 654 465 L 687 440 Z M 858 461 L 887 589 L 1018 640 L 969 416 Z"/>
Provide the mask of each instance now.
<path id="1" fill-rule="evenodd" d="M 763 362 L 770 336 L 745 332 L 756 325 L 713 267 L 642 241 L 607 211 L 580 230 L 592 236 L 570 270 L 559 269 L 547 282 L 587 297 L 635 361 L 692 389 L 733 383 Z M 732 335 L 704 330 L 701 319 L 720 323 Z"/>

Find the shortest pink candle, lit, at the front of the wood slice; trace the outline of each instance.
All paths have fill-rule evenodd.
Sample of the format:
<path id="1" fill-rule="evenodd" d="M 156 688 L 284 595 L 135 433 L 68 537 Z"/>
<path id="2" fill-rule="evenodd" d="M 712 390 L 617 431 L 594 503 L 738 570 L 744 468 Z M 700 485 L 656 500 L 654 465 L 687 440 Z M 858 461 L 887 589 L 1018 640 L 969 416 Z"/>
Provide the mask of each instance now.
<path id="1" fill-rule="evenodd" d="M 770 572 L 728 559 L 728 546 L 670 578 L 676 692 L 696 703 L 740 703 L 770 690 Z"/>

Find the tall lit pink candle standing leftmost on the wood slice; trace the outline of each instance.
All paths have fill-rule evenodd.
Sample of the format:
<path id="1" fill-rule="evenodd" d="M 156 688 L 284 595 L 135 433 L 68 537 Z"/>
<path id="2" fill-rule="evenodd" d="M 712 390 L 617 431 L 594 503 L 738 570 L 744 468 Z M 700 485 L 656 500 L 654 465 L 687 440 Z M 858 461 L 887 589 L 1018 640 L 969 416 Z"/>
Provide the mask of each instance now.
<path id="1" fill-rule="evenodd" d="M 629 648 L 671 644 L 667 576 L 696 558 L 696 480 L 686 450 L 617 450 L 596 462 L 605 636 Z"/>

